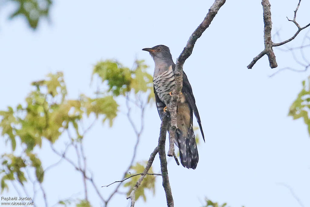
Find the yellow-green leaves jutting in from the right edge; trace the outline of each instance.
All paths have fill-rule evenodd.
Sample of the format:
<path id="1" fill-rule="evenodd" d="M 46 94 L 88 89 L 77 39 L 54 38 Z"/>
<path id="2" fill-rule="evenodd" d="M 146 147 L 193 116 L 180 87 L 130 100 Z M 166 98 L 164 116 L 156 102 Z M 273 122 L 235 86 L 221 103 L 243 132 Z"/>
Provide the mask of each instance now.
<path id="1" fill-rule="evenodd" d="M 308 83 L 308 84 L 307 84 Z M 290 106 L 289 116 L 293 119 L 303 118 L 304 123 L 308 126 L 308 133 L 310 135 L 310 119 L 308 111 L 310 109 L 310 76 L 308 81 L 303 81 L 303 89 L 299 92 L 296 100 Z"/>

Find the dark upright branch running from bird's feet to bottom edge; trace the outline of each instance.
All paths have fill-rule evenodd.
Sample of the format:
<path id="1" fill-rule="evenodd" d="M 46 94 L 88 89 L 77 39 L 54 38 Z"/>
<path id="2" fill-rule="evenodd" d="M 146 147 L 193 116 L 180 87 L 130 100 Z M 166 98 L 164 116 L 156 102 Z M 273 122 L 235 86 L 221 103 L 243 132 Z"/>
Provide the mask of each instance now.
<path id="1" fill-rule="evenodd" d="M 160 167 L 162 170 L 162 186 L 165 189 L 167 205 L 168 207 L 173 207 L 174 203 L 173 203 L 171 187 L 169 183 L 166 152 L 165 152 L 167 123 L 168 123 L 168 117 L 163 116 L 162 125 L 160 127 L 159 139 L 158 139 L 158 154 L 159 154 L 159 159 L 160 159 Z"/>

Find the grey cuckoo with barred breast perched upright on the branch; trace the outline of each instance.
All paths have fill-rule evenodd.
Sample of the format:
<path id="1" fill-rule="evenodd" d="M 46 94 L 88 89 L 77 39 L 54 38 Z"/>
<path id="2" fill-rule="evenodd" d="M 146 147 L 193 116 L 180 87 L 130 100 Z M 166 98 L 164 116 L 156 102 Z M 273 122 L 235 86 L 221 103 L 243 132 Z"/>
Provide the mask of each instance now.
<path id="1" fill-rule="evenodd" d="M 142 50 L 149 52 L 155 63 L 153 89 L 157 111 L 160 119 L 162 119 L 167 113 L 167 106 L 175 85 L 175 63 L 172 60 L 169 47 L 165 45 L 143 48 Z M 181 164 L 188 169 L 196 169 L 199 159 L 193 130 L 193 113 L 197 118 L 203 141 L 205 141 L 192 87 L 183 71 L 183 88 L 177 103 L 177 129 L 174 143 L 179 148 Z M 167 130 L 169 130 L 171 121 L 169 114 L 167 115 L 169 117 Z"/>

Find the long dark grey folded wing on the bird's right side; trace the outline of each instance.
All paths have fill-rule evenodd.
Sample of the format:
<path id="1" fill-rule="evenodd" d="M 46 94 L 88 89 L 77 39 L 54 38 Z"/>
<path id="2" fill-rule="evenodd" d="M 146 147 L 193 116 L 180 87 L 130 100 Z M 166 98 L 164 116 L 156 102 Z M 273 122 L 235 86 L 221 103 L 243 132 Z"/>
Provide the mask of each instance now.
<path id="1" fill-rule="evenodd" d="M 172 69 L 173 69 L 173 71 L 175 70 L 175 64 L 172 65 Z M 182 93 L 185 94 L 186 100 L 189 103 L 189 106 L 191 107 L 191 109 L 193 110 L 193 112 L 197 118 L 197 122 L 199 124 L 201 135 L 202 135 L 203 141 L 205 142 L 205 136 L 204 136 L 203 131 L 202 131 L 201 120 L 200 120 L 200 116 L 199 116 L 198 109 L 196 106 L 196 101 L 195 101 L 195 98 L 193 95 L 193 90 L 192 90 L 191 84 L 189 84 L 189 81 L 188 81 L 187 76 L 184 73 L 184 71 L 183 71 Z"/>

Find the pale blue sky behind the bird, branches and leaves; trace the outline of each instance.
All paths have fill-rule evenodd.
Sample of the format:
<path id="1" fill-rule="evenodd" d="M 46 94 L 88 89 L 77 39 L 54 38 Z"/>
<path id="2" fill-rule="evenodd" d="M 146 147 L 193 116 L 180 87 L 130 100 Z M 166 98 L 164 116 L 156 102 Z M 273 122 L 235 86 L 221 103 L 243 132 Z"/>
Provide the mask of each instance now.
<path id="1" fill-rule="evenodd" d="M 153 73 L 153 60 L 141 49 L 164 44 L 175 60 L 213 2 L 56 0 L 50 20 L 41 21 L 36 31 L 23 18 L 7 20 L 14 5 L 0 7 L 0 109 L 23 102 L 30 83 L 49 72 L 64 72 L 69 97 L 91 95 L 92 68 L 100 60 L 114 58 L 131 67 L 138 57 L 145 59 Z M 286 16 L 293 17 L 297 3 L 271 1 L 272 34 L 281 29 L 285 39 L 295 33 Z M 309 7 L 308 1 L 301 2 L 297 15 L 301 26 L 309 23 Z M 289 45 L 299 46 L 305 32 Z M 201 206 L 205 196 L 232 207 L 299 206 L 290 191 L 277 183 L 292 187 L 304 206 L 310 206 L 310 138 L 302 120 L 287 117 L 309 72 L 283 71 L 268 78 L 286 66 L 299 69 L 289 53 L 279 50 L 275 50 L 277 69 L 270 69 L 264 56 L 248 70 L 246 66 L 262 49 L 261 2 L 227 1 L 185 62 L 206 143 L 198 146 L 197 169 L 169 163 L 175 206 Z M 137 161 L 148 159 L 157 145 L 160 119 L 154 105 L 146 116 L 151 118 L 145 123 Z M 98 186 L 122 177 L 135 142 L 134 136 L 128 136 L 131 133 L 125 116 L 119 115 L 113 128 L 99 123 L 86 137 L 88 166 Z M 6 151 L 9 146 L 0 143 L 0 151 Z M 44 143 L 40 152 L 45 167 L 58 160 L 45 150 L 48 147 Z M 153 167 L 160 170 L 158 156 Z M 60 168 L 45 177 L 50 204 L 77 193 L 83 197 L 82 183 L 76 182 L 80 174 L 66 162 Z M 3 195 L 17 196 L 11 189 Z M 113 189 L 100 191 L 106 197 Z M 95 198 L 92 203 L 99 206 Z M 128 204 L 124 195 L 117 195 L 110 206 Z M 147 204 L 136 203 L 165 205 L 161 178 L 157 178 L 155 196 L 149 194 Z"/>

